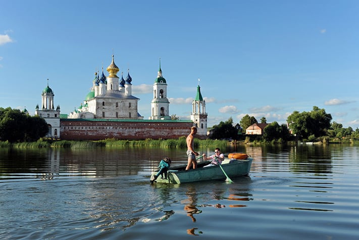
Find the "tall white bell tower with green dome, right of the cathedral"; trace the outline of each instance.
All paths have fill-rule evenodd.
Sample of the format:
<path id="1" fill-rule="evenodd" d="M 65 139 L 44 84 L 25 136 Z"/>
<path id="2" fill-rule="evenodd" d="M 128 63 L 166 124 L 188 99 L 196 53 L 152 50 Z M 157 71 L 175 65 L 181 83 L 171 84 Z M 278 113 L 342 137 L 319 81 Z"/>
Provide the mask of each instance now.
<path id="1" fill-rule="evenodd" d="M 158 119 L 171 119 L 169 116 L 170 102 L 167 98 L 167 83 L 166 79 L 162 76 L 161 59 L 160 69 L 158 71 L 157 78 L 153 84 L 153 99 L 151 102 L 151 116 L 149 120 Z"/>

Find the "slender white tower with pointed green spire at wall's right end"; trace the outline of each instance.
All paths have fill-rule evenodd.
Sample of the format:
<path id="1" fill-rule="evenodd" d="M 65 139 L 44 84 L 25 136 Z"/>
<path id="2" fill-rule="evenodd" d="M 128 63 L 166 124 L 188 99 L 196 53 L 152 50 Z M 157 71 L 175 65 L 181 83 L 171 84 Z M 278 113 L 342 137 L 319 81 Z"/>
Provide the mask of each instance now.
<path id="1" fill-rule="evenodd" d="M 206 101 L 202 98 L 199 85 L 197 86 L 196 98 L 192 102 L 191 120 L 197 127 L 197 134 L 207 136 Z"/>

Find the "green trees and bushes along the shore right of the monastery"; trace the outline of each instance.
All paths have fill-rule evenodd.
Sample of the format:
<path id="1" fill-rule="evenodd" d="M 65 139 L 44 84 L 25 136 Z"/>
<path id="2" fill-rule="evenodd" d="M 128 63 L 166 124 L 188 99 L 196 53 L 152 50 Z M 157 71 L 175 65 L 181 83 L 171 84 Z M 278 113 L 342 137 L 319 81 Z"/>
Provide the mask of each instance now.
<path id="1" fill-rule="evenodd" d="M 310 112 L 294 111 L 287 118 L 287 124 L 278 124 L 274 121 L 268 124 L 264 130 L 263 135 L 260 136 L 266 141 L 318 141 L 325 138 L 343 139 L 352 138 L 359 139 L 359 129 L 353 130 L 351 127 L 343 128 L 343 125 L 337 122 L 331 122 L 332 116 L 326 113 L 325 109 L 320 109 L 317 106 L 313 107 Z M 253 116 L 245 115 L 240 120 L 240 129 L 233 126 L 233 119 L 229 118 L 226 122 L 220 122 L 213 126 L 213 139 L 240 139 L 245 135 L 245 130 L 252 124 L 259 123 Z M 265 117 L 261 118 L 261 123 L 267 123 Z"/>

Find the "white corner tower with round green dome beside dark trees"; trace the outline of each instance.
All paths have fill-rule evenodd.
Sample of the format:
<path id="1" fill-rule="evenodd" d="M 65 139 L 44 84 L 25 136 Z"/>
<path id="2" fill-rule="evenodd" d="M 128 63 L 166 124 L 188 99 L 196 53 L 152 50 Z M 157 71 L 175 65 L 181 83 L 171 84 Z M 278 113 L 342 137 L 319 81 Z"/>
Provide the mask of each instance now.
<path id="1" fill-rule="evenodd" d="M 41 108 L 36 105 L 35 115 L 42 117 L 48 126 L 48 133 L 46 137 L 60 138 L 60 106 L 54 107 L 54 92 L 48 87 L 42 91 L 41 94 Z"/>

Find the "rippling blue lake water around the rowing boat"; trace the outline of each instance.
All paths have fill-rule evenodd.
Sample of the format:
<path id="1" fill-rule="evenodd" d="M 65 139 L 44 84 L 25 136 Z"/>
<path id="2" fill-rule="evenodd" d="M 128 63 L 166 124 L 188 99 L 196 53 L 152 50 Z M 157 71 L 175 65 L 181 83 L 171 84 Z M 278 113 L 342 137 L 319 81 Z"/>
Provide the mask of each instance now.
<path id="1" fill-rule="evenodd" d="M 359 147 L 226 152 L 254 158 L 248 177 L 150 185 L 185 150 L 0 149 L 0 238 L 359 239 Z"/>

